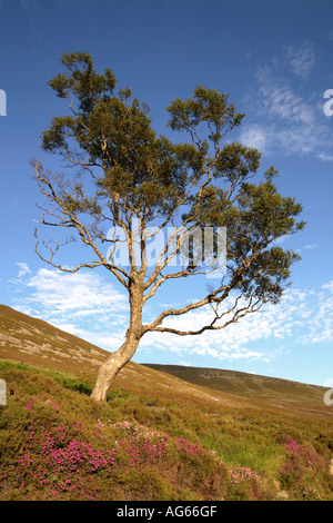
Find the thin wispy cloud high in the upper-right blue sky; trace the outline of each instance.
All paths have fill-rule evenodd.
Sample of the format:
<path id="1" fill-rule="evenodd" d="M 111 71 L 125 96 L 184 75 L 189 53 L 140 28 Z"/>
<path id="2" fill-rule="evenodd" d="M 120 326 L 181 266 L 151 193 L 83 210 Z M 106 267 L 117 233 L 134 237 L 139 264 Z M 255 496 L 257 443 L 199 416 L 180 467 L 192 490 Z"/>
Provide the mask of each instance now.
<path id="1" fill-rule="evenodd" d="M 258 68 L 246 99 L 250 110 L 241 142 L 266 155 L 333 160 L 332 129 L 323 112 L 323 93 L 304 93 L 300 82 L 300 78 L 310 77 L 314 63 L 313 46 L 306 41 L 299 48 L 285 47 L 282 57 Z"/>

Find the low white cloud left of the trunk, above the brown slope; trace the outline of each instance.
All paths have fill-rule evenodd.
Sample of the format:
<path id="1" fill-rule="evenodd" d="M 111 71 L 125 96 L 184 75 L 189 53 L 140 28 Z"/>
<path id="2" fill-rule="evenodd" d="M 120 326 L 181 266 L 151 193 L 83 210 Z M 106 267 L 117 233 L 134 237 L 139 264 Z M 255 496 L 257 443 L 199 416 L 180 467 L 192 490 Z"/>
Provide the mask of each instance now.
<path id="1" fill-rule="evenodd" d="M 29 272 L 20 287 L 19 280 L 16 285 L 20 289 L 20 298 L 12 304 L 16 309 L 105 349 L 114 351 L 122 343 L 128 327 L 127 295 L 99 274 L 42 268 L 34 275 Z"/>

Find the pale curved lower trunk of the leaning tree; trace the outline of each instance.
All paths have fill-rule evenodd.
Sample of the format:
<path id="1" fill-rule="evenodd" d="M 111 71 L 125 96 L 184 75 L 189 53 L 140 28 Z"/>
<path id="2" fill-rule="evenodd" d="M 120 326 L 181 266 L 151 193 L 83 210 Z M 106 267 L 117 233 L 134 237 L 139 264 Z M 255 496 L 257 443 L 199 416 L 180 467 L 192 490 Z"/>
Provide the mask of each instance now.
<path id="1" fill-rule="evenodd" d="M 110 354 L 108 359 L 100 366 L 98 377 L 91 397 L 98 402 L 105 402 L 110 385 L 119 371 L 134 356 L 140 338 L 142 336 L 142 290 L 132 288 L 130 293 L 130 326 L 125 341 L 121 347 Z"/>

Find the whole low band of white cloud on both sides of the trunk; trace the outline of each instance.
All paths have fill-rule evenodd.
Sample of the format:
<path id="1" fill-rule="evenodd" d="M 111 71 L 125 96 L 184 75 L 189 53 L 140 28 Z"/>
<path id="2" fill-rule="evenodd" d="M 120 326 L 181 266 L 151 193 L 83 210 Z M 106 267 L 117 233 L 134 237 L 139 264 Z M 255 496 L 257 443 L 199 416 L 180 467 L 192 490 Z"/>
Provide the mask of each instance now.
<path id="1" fill-rule="evenodd" d="M 127 296 L 100 275 L 68 275 L 50 269 L 39 269 L 33 275 L 26 270 L 16 285 L 20 286 L 20 297 L 13 300 L 14 308 L 109 351 L 122 343 L 128 328 Z M 199 309 L 170 318 L 168 325 L 181 329 L 199 327 L 211 319 L 211 314 L 210 308 Z M 283 357 L 285 347 L 319 343 L 333 343 L 333 280 L 319 292 L 290 289 L 279 305 L 269 305 L 222 330 L 200 336 L 149 333 L 142 338 L 140 351 L 176 353 L 182 359 L 209 356 L 218 362 L 268 363 Z"/>

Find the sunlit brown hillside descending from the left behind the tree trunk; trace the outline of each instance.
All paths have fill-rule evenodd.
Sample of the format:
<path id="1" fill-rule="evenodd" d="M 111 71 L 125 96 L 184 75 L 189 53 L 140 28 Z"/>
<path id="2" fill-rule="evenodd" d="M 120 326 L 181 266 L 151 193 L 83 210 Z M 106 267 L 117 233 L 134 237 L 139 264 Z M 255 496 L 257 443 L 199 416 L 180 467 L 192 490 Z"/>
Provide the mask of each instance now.
<path id="1" fill-rule="evenodd" d="M 93 381 L 101 363 L 110 353 L 42 319 L 0 305 L 0 359 L 69 373 Z M 130 381 L 139 388 L 173 388 L 192 396 L 213 397 L 221 403 L 230 399 L 206 387 L 193 387 L 176 376 L 129 362 L 119 373 L 115 386 Z M 225 396 L 225 395 L 224 395 Z M 235 403 L 240 399 L 235 397 Z M 243 402 L 241 402 L 243 403 Z"/>

